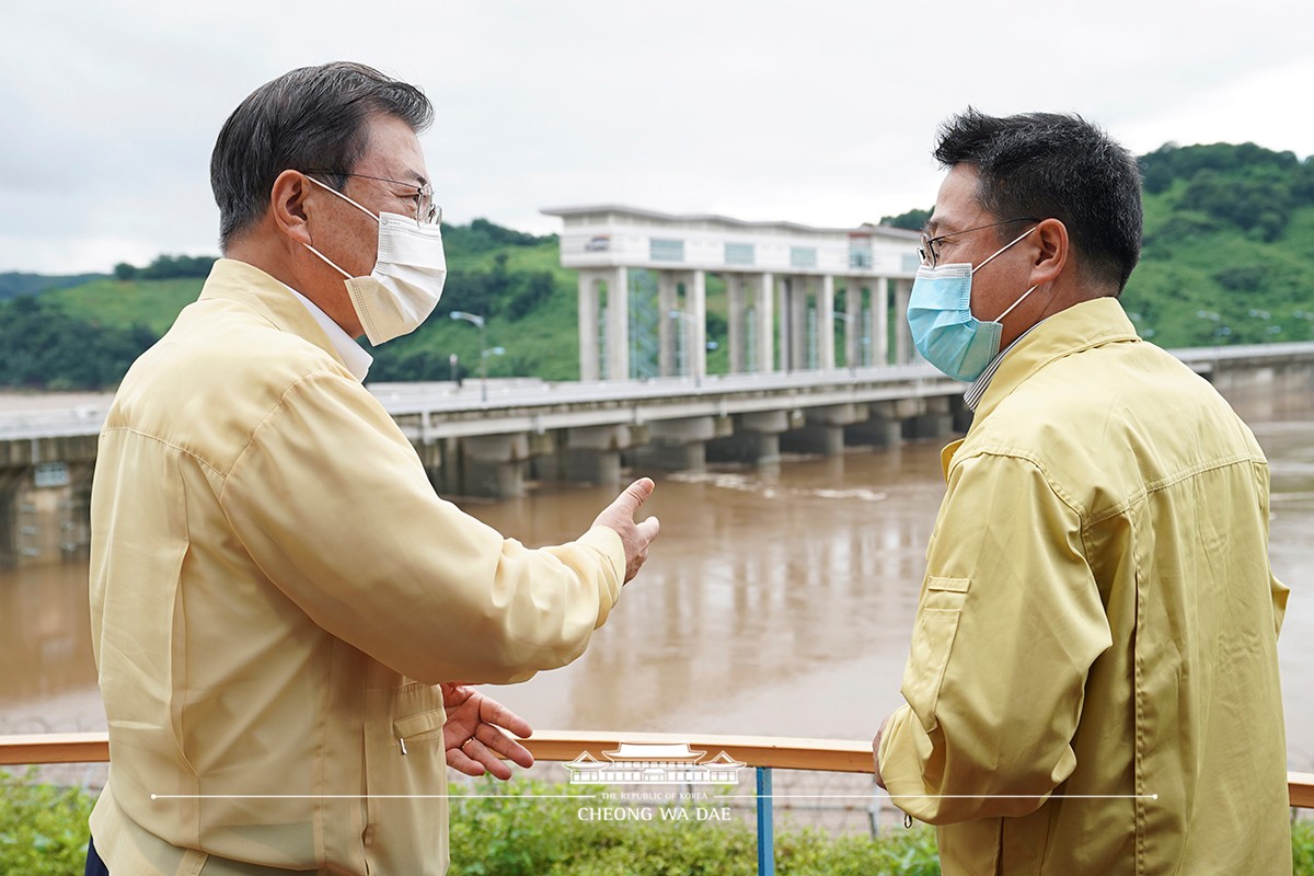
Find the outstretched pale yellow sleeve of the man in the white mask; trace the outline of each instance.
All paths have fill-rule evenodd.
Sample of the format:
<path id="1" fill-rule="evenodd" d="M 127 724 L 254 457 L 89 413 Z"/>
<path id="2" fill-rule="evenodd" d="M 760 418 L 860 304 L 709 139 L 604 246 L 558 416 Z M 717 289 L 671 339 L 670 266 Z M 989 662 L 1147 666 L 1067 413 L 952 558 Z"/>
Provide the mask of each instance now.
<path id="1" fill-rule="evenodd" d="M 530 550 L 435 495 L 359 383 L 294 383 L 221 503 L 269 580 L 321 628 L 426 682 L 505 683 L 583 653 L 624 582 L 612 529 Z"/>

